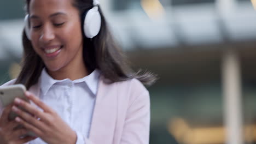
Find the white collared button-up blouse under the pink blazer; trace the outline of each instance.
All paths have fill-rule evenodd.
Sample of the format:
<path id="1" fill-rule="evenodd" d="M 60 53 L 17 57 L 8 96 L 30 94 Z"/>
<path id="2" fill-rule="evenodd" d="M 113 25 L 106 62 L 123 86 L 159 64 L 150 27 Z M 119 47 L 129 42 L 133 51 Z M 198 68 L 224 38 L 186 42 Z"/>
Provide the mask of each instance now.
<path id="1" fill-rule="evenodd" d="M 40 78 L 39 98 L 54 109 L 59 116 L 77 133 L 76 144 L 85 143 L 83 137 L 89 136 L 92 113 L 98 88 L 100 71 L 78 80 L 54 80 L 45 69 Z M 42 139 L 30 141 L 30 144 L 43 144 Z"/>

